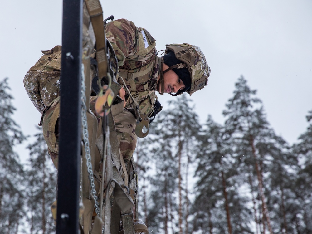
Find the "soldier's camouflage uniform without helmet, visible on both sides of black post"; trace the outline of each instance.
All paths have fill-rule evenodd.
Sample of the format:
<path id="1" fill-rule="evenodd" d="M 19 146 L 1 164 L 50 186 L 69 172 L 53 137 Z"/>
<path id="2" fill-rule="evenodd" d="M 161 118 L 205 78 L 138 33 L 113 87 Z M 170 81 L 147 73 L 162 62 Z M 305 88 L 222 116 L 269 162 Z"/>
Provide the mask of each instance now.
<path id="1" fill-rule="evenodd" d="M 154 38 L 145 29 L 136 27 L 133 22 L 126 19 L 109 22 L 105 27 L 105 31 L 107 39 L 115 50 L 122 77 L 127 71 L 133 71 L 134 73 L 145 69 L 149 71 L 145 75 L 145 80 L 146 77 L 148 80 L 144 83 L 141 82 L 140 77 L 134 78 L 135 87 L 133 84 L 129 84 L 128 77 L 123 78 L 131 94 L 137 100 L 142 113 L 150 116 L 154 110 L 155 98 L 157 98 L 155 89 L 160 69 L 160 59 L 156 56 Z M 84 30 L 84 35 L 85 32 L 88 31 Z M 148 44 L 144 43 L 144 37 Z M 90 41 L 87 42 L 92 44 Z M 54 50 L 56 49 L 61 52 L 60 46 L 56 46 Z M 24 78 L 24 86 L 30 99 L 42 114 L 40 125 L 43 126 L 43 135 L 48 145 L 49 154 L 57 168 L 58 122 L 56 121 L 56 126 L 52 130 L 49 123 L 59 103 L 59 98 L 56 99 L 59 96 L 59 82 L 54 82 L 54 80 L 58 80 L 61 74 L 61 53 L 58 54 L 57 59 L 53 58 L 53 60 L 48 55 L 49 53 L 46 59 L 39 60 L 27 72 Z M 94 69 L 91 69 L 91 71 L 94 71 Z M 120 84 L 123 84 L 119 76 L 117 76 L 117 80 Z M 43 80 L 45 80 L 45 83 L 43 83 Z M 95 100 L 96 96 L 90 98 L 90 109 L 96 115 L 94 111 Z M 127 93 L 125 100 L 125 109 L 134 108 Z M 121 153 L 124 160 L 128 161 L 133 155 L 137 142 L 135 134 L 136 119 L 129 111 L 123 110 L 121 113 L 114 115 L 114 122 Z"/>

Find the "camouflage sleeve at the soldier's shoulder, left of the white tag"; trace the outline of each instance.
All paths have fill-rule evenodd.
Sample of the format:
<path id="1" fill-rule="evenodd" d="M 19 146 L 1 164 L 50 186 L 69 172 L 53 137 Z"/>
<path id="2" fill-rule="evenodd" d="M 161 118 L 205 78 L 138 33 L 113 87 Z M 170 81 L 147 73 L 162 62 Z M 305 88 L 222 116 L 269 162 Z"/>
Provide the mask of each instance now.
<path id="1" fill-rule="evenodd" d="M 110 41 L 118 59 L 118 65 L 124 65 L 124 60 L 133 54 L 135 46 L 135 25 L 126 20 L 119 19 L 109 22 L 105 26 L 106 38 Z"/>

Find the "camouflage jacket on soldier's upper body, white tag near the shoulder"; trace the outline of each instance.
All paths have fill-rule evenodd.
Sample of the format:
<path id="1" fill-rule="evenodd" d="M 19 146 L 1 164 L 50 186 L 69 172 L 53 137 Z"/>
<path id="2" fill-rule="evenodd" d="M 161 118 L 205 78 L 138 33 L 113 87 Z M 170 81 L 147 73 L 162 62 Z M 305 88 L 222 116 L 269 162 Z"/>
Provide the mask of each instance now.
<path id="1" fill-rule="evenodd" d="M 150 116 L 157 99 L 155 91 L 161 65 L 154 38 L 144 28 L 138 28 L 126 19 L 109 22 L 105 32 L 118 59 L 118 83 L 123 84 L 121 76 L 142 113 Z M 125 100 L 126 109 L 134 108 L 127 93 Z"/>

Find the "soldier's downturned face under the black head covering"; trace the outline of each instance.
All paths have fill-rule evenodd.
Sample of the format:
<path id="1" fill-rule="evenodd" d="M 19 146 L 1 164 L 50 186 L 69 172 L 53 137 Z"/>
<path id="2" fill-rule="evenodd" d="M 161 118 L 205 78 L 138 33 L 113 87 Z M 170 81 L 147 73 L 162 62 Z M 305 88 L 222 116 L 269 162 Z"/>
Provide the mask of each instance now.
<path id="1" fill-rule="evenodd" d="M 169 68 L 166 64 L 163 64 L 163 71 Z M 176 93 L 178 90 L 185 88 L 183 81 L 173 71 L 169 70 L 163 74 L 164 93 Z"/>

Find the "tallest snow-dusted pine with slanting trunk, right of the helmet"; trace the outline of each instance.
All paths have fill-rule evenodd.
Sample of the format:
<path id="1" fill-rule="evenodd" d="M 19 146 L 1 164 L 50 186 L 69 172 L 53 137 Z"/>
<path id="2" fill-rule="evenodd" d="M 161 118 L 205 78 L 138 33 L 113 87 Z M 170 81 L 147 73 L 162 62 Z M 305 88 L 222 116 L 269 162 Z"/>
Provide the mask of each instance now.
<path id="1" fill-rule="evenodd" d="M 263 130 L 263 123 L 261 122 L 263 119 L 255 116 L 256 111 L 259 109 L 254 106 L 261 103 L 261 100 L 254 97 L 256 90 L 251 90 L 246 83 L 247 81 L 243 76 L 238 79 L 238 82 L 235 84 L 236 90 L 234 91 L 234 97 L 229 99 L 226 104 L 227 110 L 223 111 L 223 115 L 227 118 L 225 122 L 227 132 L 237 142 L 236 152 L 241 154 L 242 163 L 250 162 L 249 165 L 253 166 L 250 168 L 246 165 L 245 168 L 255 172 L 253 175 L 256 176 L 258 185 L 257 195 L 261 199 L 263 232 L 266 230 L 264 225 L 267 224 L 269 232 L 272 234 L 271 221 L 266 204 L 267 200 L 264 195 L 263 171 L 260 168 L 263 159 L 260 158 L 255 148 L 257 140 L 261 138 L 259 134 Z"/>

